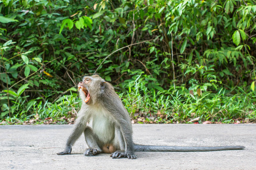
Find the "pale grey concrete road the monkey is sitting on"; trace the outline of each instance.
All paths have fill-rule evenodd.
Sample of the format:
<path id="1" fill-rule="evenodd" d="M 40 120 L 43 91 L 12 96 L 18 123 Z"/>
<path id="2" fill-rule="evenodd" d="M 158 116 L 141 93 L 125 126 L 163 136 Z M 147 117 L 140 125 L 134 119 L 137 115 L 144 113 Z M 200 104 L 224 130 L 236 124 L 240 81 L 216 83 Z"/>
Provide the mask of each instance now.
<path id="1" fill-rule="evenodd" d="M 0 126 L 0 169 L 256 169 L 256 124 L 133 125 L 134 142 L 169 146 L 242 145 L 245 150 L 137 152 L 138 159 L 86 157 L 82 135 L 63 151 L 73 125 Z"/>

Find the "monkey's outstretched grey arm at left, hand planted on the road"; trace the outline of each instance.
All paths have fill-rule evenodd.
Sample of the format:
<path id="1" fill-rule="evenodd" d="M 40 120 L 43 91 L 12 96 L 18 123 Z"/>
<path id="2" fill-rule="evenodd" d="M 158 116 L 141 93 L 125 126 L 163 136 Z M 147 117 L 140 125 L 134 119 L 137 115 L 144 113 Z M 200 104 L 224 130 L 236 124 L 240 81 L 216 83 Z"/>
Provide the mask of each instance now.
<path id="1" fill-rule="evenodd" d="M 76 142 L 76 140 L 81 136 L 82 132 L 86 128 L 86 119 L 83 120 L 84 117 L 79 117 L 76 120 L 75 127 L 73 128 L 71 134 L 68 137 L 65 150 L 63 152 L 57 153 L 57 155 L 67 155 L 71 154 L 72 151 L 72 145 Z"/>

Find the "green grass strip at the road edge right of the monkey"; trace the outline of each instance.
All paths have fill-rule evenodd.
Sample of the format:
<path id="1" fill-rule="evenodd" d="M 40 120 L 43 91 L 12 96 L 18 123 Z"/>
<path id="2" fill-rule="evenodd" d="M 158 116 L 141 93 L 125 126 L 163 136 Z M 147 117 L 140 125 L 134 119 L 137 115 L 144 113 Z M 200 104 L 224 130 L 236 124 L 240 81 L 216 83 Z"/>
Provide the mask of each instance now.
<path id="1" fill-rule="evenodd" d="M 155 117 L 154 121 L 148 122 L 188 123 L 197 117 L 200 117 L 199 123 L 256 120 L 256 93 L 245 92 L 240 87 L 229 91 L 221 88 L 217 93 L 204 92 L 200 96 L 179 90 L 174 94 L 148 91 L 136 83 L 129 89 L 127 94 L 121 94 L 127 111 L 133 118 L 141 116 L 147 120 L 147 117 Z"/>

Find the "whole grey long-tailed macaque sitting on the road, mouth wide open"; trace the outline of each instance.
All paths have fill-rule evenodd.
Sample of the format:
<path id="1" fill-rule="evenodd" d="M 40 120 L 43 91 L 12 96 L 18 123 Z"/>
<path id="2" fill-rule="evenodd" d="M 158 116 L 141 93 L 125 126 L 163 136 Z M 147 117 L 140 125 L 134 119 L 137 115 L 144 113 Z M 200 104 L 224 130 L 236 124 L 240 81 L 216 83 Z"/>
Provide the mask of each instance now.
<path id="1" fill-rule="evenodd" d="M 89 148 L 85 156 L 110 153 L 112 158 L 136 159 L 134 151 L 191 152 L 242 150 L 243 146 L 176 147 L 146 146 L 133 143 L 131 121 L 122 101 L 113 86 L 98 75 L 85 76 L 78 84 L 82 107 L 75 127 L 69 135 L 65 150 L 58 155 L 71 154 L 72 145 L 84 132 Z M 92 128 L 87 125 L 92 122 Z"/>

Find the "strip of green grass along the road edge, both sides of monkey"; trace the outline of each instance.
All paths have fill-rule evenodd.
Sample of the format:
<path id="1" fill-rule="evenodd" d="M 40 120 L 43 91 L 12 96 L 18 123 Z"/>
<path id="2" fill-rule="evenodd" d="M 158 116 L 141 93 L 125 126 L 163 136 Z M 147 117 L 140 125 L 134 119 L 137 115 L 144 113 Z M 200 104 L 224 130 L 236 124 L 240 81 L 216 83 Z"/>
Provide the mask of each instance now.
<path id="1" fill-rule="evenodd" d="M 130 82 L 127 91 L 120 93 L 123 104 L 137 123 L 198 123 L 232 124 L 256 121 L 256 92 L 246 92 L 241 87 L 218 92 L 188 92 L 185 88 L 169 91 L 148 90 L 144 82 Z M 26 96 L 24 96 L 26 97 Z M 55 103 L 42 102 L 40 98 L 24 104 L 24 97 L 16 99 L 11 112 L 0 124 L 71 124 L 81 102 L 77 93 L 64 95 Z"/>

